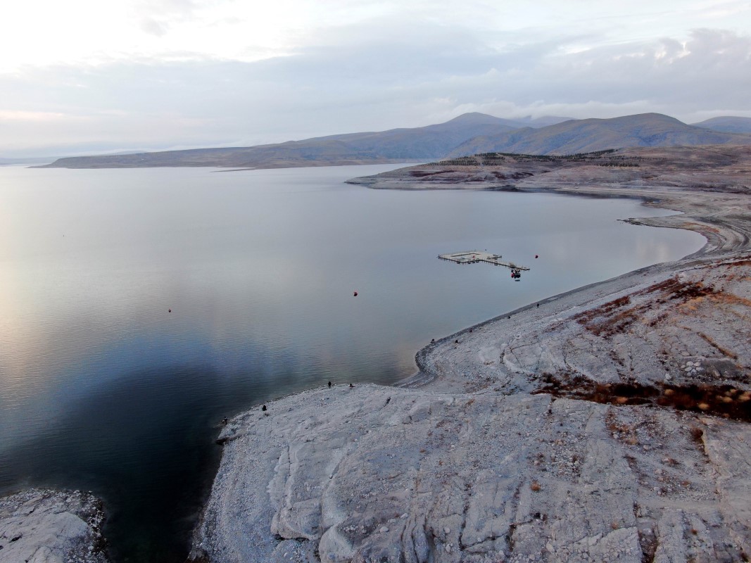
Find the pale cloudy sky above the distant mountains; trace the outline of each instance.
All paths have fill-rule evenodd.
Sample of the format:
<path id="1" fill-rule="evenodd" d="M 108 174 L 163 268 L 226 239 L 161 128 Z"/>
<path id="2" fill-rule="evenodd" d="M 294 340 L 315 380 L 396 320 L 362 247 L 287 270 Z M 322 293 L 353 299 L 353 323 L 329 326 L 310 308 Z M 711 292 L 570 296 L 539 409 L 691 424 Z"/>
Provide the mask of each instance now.
<path id="1" fill-rule="evenodd" d="M 24 0 L 0 158 L 249 146 L 445 122 L 751 117 L 751 2 Z"/>

